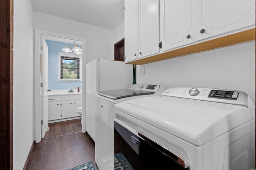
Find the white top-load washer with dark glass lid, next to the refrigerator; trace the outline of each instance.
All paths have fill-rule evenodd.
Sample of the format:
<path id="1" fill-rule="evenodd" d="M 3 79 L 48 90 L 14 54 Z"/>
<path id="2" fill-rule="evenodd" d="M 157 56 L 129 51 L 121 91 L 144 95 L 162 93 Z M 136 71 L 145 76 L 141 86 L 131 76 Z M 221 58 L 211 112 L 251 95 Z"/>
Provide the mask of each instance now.
<path id="1" fill-rule="evenodd" d="M 99 170 L 114 170 L 114 105 L 160 95 L 164 90 L 157 84 L 133 84 L 128 89 L 96 92 L 95 160 Z"/>

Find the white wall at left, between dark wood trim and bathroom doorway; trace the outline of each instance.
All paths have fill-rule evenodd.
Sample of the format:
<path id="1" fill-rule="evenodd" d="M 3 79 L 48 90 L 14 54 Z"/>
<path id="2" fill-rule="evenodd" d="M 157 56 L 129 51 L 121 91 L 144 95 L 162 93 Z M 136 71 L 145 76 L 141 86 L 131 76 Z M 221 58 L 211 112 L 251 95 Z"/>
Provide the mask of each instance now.
<path id="1" fill-rule="evenodd" d="M 13 169 L 24 167 L 34 141 L 33 8 L 14 0 Z"/>

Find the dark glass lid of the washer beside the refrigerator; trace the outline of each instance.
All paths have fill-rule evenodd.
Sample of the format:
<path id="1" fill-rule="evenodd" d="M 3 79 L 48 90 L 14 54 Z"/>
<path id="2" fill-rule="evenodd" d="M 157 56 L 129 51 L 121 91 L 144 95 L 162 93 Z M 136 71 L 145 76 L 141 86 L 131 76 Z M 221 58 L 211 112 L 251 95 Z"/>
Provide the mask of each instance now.
<path id="1" fill-rule="evenodd" d="M 106 91 L 96 92 L 96 93 L 111 99 L 120 99 L 120 98 L 127 98 L 131 96 L 154 94 L 154 92 L 149 92 L 144 90 L 131 90 L 131 89 L 106 90 Z"/>

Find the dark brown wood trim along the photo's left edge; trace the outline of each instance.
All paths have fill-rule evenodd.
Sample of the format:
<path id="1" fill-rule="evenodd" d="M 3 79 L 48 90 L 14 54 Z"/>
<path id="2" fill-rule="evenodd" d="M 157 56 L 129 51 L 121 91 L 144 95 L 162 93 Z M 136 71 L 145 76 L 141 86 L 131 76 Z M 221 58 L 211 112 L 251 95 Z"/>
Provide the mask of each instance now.
<path id="1" fill-rule="evenodd" d="M 13 169 L 13 0 L 0 5 L 0 169 Z"/>

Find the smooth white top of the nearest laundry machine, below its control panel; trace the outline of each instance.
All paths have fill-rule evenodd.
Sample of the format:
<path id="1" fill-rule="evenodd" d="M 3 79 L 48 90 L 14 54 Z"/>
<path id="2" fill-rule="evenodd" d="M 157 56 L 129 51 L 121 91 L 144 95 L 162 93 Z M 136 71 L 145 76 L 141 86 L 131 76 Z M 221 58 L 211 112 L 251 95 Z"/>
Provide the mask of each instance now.
<path id="1" fill-rule="evenodd" d="M 198 146 L 255 119 L 255 110 L 244 106 L 169 96 L 138 98 L 114 107 L 119 114 L 131 115 Z"/>

